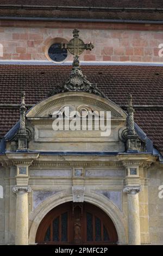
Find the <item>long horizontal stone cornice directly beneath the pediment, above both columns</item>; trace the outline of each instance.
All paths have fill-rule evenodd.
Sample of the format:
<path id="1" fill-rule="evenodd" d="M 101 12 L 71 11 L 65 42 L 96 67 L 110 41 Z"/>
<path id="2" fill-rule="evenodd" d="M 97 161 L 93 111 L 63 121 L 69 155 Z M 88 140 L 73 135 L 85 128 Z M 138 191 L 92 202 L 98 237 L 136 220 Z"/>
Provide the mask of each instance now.
<path id="1" fill-rule="evenodd" d="M 0 156 L 3 167 L 24 164 L 32 167 L 62 167 L 62 166 L 137 166 L 149 168 L 157 157 L 151 154 L 118 154 L 116 155 L 40 155 L 39 153 L 5 153 Z"/>

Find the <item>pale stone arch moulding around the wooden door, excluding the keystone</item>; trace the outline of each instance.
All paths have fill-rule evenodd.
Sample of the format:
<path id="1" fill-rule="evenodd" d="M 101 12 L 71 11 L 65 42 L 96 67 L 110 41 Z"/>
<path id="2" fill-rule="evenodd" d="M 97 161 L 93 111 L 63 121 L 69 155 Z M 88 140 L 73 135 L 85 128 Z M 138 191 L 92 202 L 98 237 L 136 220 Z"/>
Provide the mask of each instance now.
<path id="1" fill-rule="evenodd" d="M 66 192 L 58 193 L 45 200 L 32 214 L 30 214 L 29 219 L 32 221 L 32 224 L 29 230 L 29 245 L 35 244 L 37 228 L 43 217 L 56 206 L 70 201 L 72 201 L 72 194 L 66 194 Z M 97 195 L 97 193 L 86 193 L 84 201 L 94 204 L 102 209 L 115 225 L 118 234 L 118 244 L 127 244 L 127 230 L 124 228 L 126 227 L 126 223 L 123 221 L 124 217 L 122 212 L 108 199 L 105 199 L 104 196 Z"/>

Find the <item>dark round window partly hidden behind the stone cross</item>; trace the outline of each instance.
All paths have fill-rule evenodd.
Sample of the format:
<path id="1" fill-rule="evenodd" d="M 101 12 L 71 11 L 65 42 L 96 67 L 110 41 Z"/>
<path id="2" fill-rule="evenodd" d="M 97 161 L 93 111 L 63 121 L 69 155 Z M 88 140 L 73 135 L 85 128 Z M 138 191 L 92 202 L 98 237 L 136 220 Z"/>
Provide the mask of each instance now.
<path id="1" fill-rule="evenodd" d="M 67 58 L 67 49 L 61 49 L 60 44 L 53 44 L 49 47 L 48 56 L 54 62 L 62 62 Z"/>

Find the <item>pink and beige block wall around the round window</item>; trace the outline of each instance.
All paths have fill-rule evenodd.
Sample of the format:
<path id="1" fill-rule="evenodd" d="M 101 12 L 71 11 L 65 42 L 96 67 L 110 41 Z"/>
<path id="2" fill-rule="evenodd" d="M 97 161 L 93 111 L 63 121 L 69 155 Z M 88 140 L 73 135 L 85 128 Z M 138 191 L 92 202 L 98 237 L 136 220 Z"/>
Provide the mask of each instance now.
<path id="1" fill-rule="evenodd" d="M 80 29 L 80 28 L 79 28 Z M 47 60 L 45 46 L 52 38 L 72 38 L 73 28 L 0 27 L 0 60 Z M 92 41 L 95 48 L 85 51 L 81 60 L 162 62 L 159 44 L 163 44 L 163 31 L 129 29 L 80 29 L 84 42 Z M 66 60 L 71 60 L 68 56 Z"/>

